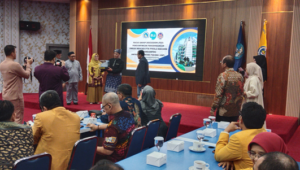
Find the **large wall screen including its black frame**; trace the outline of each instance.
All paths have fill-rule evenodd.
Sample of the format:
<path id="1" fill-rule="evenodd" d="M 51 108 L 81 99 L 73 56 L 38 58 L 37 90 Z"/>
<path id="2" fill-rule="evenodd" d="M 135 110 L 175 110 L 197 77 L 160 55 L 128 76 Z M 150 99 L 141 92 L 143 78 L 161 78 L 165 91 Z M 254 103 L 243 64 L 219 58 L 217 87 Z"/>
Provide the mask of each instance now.
<path id="1" fill-rule="evenodd" d="M 144 50 L 150 77 L 202 80 L 206 20 L 122 23 L 123 75 L 134 75 Z"/>

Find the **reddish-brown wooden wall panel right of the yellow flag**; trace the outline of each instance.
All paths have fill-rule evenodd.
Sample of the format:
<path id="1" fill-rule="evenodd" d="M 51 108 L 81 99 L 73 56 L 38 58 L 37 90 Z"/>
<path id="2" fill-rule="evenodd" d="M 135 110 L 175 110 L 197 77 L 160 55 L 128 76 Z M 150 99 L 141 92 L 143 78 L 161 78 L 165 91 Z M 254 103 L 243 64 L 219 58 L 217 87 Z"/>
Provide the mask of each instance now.
<path id="1" fill-rule="evenodd" d="M 262 16 L 268 21 L 268 80 L 264 85 L 264 103 L 269 113 L 284 115 L 293 14 L 267 13 Z"/>

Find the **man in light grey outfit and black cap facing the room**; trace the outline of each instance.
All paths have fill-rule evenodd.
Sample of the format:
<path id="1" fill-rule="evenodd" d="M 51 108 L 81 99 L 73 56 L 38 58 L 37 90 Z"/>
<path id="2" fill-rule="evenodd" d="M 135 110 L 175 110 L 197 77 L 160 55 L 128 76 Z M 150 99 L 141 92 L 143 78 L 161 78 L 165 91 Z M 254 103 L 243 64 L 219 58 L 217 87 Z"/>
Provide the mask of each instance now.
<path id="1" fill-rule="evenodd" d="M 66 61 L 66 68 L 70 76 L 69 81 L 66 82 L 67 86 L 67 105 L 71 102 L 75 105 L 78 104 L 78 82 L 82 81 L 82 71 L 79 61 L 76 60 L 74 52 L 68 53 L 69 59 Z"/>

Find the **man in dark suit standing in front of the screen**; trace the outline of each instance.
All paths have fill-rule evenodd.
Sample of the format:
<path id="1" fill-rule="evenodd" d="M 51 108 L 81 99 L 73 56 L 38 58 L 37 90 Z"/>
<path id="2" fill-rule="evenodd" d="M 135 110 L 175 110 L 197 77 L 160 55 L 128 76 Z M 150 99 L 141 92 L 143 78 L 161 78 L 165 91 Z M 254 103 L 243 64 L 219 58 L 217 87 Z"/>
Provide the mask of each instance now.
<path id="1" fill-rule="evenodd" d="M 148 60 L 144 57 L 145 53 L 143 50 L 139 50 L 138 58 L 140 63 L 135 71 L 135 82 L 137 85 L 137 96 L 140 96 L 141 90 L 150 83 L 150 75 L 149 75 L 149 64 Z"/>

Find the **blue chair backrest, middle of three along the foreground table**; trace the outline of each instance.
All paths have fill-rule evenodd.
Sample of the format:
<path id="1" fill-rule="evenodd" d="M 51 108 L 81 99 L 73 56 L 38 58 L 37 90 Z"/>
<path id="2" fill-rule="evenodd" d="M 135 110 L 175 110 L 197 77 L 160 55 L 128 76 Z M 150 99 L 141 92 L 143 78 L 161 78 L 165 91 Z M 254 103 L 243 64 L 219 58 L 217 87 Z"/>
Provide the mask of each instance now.
<path id="1" fill-rule="evenodd" d="M 154 146 L 154 138 L 158 133 L 159 126 L 160 126 L 159 119 L 151 120 L 148 122 L 143 150 Z"/>

